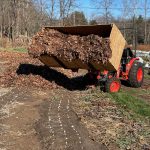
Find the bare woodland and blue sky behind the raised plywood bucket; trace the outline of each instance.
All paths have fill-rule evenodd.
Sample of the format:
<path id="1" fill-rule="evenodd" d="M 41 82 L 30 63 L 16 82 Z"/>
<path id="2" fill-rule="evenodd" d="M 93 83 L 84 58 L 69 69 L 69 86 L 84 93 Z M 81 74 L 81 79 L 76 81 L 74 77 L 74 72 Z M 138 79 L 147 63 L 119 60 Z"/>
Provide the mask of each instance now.
<path id="1" fill-rule="evenodd" d="M 150 0 L 122 0 L 119 8 L 113 2 L 91 0 L 95 15 L 89 18 L 77 0 L 0 0 L 0 47 L 26 45 L 43 26 L 108 23 L 116 23 L 129 44 L 150 45 Z"/>

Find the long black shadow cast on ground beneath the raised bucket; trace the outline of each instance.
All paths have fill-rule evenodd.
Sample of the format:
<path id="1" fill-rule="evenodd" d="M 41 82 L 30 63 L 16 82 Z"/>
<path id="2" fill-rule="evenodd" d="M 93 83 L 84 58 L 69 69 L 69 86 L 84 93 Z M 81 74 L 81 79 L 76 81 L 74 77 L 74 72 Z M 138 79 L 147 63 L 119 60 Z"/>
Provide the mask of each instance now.
<path id="1" fill-rule="evenodd" d="M 55 82 L 68 90 L 85 90 L 87 85 L 91 84 L 87 75 L 68 78 L 63 73 L 42 65 L 20 64 L 16 72 L 18 75 L 40 75 L 44 79 Z"/>

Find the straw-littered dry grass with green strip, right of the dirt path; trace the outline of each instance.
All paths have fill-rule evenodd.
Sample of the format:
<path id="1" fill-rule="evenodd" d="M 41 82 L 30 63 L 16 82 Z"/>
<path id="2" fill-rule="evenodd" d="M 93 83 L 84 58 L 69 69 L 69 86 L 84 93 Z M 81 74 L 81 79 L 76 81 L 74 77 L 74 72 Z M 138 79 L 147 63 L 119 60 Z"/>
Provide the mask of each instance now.
<path id="1" fill-rule="evenodd" d="M 88 90 L 74 108 L 90 137 L 109 150 L 149 148 L 150 105 L 144 101 L 124 92 Z"/>

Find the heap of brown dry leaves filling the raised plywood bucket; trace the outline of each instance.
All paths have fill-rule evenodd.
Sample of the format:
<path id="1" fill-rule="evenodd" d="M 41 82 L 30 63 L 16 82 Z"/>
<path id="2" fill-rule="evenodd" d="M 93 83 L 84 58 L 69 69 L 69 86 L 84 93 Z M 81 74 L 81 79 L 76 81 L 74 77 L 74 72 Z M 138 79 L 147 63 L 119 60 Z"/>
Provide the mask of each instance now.
<path id="1" fill-rule="evenodd" d="M 32 39 L 28 52 L 33 57 L 42 54 L 63 58 L 67 61 L 79 59 L 82 62 L 106 64 L 112 57 L 110 40 L 98 35 L 88 36 L 63 34 L 49 29 L 38 32 Z"/>

